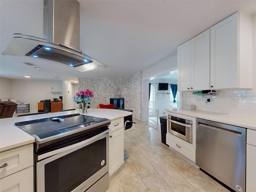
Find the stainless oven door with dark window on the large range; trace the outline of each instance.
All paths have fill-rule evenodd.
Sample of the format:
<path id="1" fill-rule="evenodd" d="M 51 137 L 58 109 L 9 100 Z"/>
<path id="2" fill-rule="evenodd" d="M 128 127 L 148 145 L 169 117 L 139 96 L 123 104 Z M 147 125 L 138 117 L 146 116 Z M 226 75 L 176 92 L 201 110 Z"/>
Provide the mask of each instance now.
<path id="1" fill-rule="evenodd" d="M 84 192 L 108 174 L 108 131 L 36 155 L 36 192 Z"/>

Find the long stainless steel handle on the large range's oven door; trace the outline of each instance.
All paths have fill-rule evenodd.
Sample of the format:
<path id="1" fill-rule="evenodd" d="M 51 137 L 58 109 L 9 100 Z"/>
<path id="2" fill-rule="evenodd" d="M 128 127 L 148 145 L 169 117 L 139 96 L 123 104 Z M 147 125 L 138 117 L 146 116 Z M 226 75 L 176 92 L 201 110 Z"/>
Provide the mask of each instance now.
<path id="1" fill-rule="evenodd" d="M 65 152 L 65 151 L 67 151 L 67 150 L 71 150 L 71 149 L 73 149 L 73 148 L 77 148 L 77 147 L 79 148 L 79 146 L 82 147 L 84 144 L 90 143 L 90 142 L 92 142 L 95 138 L 98 138 L 98 137 L 100 137 L 100 136 L 102 136 L 102 135 L 104 135 L 104 134 L 107 134 L 108 132 L 109 132 L 109 130 L 106 130 L 106 131 L 104 131 L 104 132 L 102 132 L 102 133 L 100 133 L 100 134 L 98 134 L 98 135 L 96 135 L 96 136 L 94 136 L 94 137 L 92 137 L 92 138 L 86 139 L 86 140 L 81 141 L 81 142 L 79 142 L 79 143 L 76 143 L 76 144 L 73 144 L 73 145 L 70 145 L 70 146 L 66 146 L 66 147 L 64 147 L 64 148 L 60 148 L 60 149 L 57 149 L 57 150 L 54 150 L 54 151 L 50 151 L 50 152 L 44 153 L 44 154 L 42 154 L 42 155 L 38 155 L 37 161 L 42 160 L 42 159 L 45 159 L 45 158 L 48 158 L 48 157 L 50 157 L 50 156 L 54 156 L 54 155 L 59 154 L 59 153 L 61 153 L 61 152 Z"/>

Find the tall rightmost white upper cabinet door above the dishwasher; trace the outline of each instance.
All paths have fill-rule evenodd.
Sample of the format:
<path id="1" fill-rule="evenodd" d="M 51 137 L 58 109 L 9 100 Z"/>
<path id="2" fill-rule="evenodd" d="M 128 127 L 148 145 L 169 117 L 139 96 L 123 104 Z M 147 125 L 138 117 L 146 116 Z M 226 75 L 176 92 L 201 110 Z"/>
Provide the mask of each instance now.
<path id="1" fill-rule="evenodd" d="M 210 28 L 210 86 L 238 87 L 238 13 Z"/>

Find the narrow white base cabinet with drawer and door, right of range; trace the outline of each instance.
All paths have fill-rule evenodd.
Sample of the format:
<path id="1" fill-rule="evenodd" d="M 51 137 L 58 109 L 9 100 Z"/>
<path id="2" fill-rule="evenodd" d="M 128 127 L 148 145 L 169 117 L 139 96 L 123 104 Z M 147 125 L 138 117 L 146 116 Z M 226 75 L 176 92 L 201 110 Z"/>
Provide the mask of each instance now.
<path id="1" fill-rule="evenodd" d="M 109 129 L 109 176 L 112 176 L 124 163 L 124 118 L 112 120 Z"/>

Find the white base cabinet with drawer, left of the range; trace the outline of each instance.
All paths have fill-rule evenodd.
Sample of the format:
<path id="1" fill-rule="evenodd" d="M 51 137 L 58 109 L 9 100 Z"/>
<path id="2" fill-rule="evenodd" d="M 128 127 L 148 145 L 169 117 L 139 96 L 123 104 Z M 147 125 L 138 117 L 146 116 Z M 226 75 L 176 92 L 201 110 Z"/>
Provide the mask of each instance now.
<path id="1" fill-rule="evenodd" d="M 34 191 L 33 144 L 1 152 L 0 166 L 1 192 Z"/>

